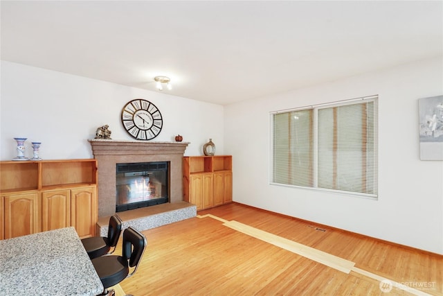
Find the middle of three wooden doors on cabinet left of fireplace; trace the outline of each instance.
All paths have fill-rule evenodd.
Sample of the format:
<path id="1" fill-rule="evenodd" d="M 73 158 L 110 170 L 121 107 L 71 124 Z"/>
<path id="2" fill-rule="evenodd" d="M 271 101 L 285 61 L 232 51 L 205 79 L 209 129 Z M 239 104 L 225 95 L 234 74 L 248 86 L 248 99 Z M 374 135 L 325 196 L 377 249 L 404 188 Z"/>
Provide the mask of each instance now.
<path id="1" fill-rule="evenodd" d="M 71 191 L 42 192 L 42 231 L 71 226 Z"/>

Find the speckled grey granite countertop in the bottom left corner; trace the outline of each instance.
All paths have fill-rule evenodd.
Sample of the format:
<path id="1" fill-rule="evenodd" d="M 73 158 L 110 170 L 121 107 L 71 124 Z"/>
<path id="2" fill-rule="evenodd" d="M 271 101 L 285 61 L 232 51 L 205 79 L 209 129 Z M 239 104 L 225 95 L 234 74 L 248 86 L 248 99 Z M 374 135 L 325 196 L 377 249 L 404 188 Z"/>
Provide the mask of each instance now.
<path id="1" fill-rule="evenodd" d="M 102 290 L 73 227 L 0 241 L 0 295 L 98 295 Z"/>

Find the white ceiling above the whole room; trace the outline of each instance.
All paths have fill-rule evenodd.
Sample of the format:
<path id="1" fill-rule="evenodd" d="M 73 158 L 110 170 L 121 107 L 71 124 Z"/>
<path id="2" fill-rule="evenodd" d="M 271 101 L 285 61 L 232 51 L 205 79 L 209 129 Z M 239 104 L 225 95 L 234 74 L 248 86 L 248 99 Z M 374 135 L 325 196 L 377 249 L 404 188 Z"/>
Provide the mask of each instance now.
<path id="1" fill-rule="evenodd" d="M 443 54 L 442 1 L 1 1 L 1 60 L 226 105 Z"/>

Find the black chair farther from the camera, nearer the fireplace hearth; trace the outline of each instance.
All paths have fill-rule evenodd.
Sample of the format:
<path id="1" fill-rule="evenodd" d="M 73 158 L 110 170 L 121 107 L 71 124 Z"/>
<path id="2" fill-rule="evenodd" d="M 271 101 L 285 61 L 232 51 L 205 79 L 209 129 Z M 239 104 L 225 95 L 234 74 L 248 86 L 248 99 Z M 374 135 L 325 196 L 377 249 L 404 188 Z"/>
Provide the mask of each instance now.
<path id="1" fill-rule="evenodd" d="M 109 218 L 108 236 L 93 236 L 83 238 L 82 243 L 84 250 L 89 255 L 90 259 L 94 259 L 106 254 L 112 254 L 116 250 L 118 238 L 122 233 L 123 221 L 117 214 Z M 112 248 L 112 250 L 111 250 Z"/>

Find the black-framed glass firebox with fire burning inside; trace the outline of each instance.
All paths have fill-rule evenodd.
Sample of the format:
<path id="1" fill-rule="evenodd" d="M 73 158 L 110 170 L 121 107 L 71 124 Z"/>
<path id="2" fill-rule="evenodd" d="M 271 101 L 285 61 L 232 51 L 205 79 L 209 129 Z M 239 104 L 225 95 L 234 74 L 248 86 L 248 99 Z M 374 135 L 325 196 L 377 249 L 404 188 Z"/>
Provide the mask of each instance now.
<path id="1" fill-rule="evenodd" d="M 170 162 L 117 164 L 116 212 L 168 202 Z"/>

